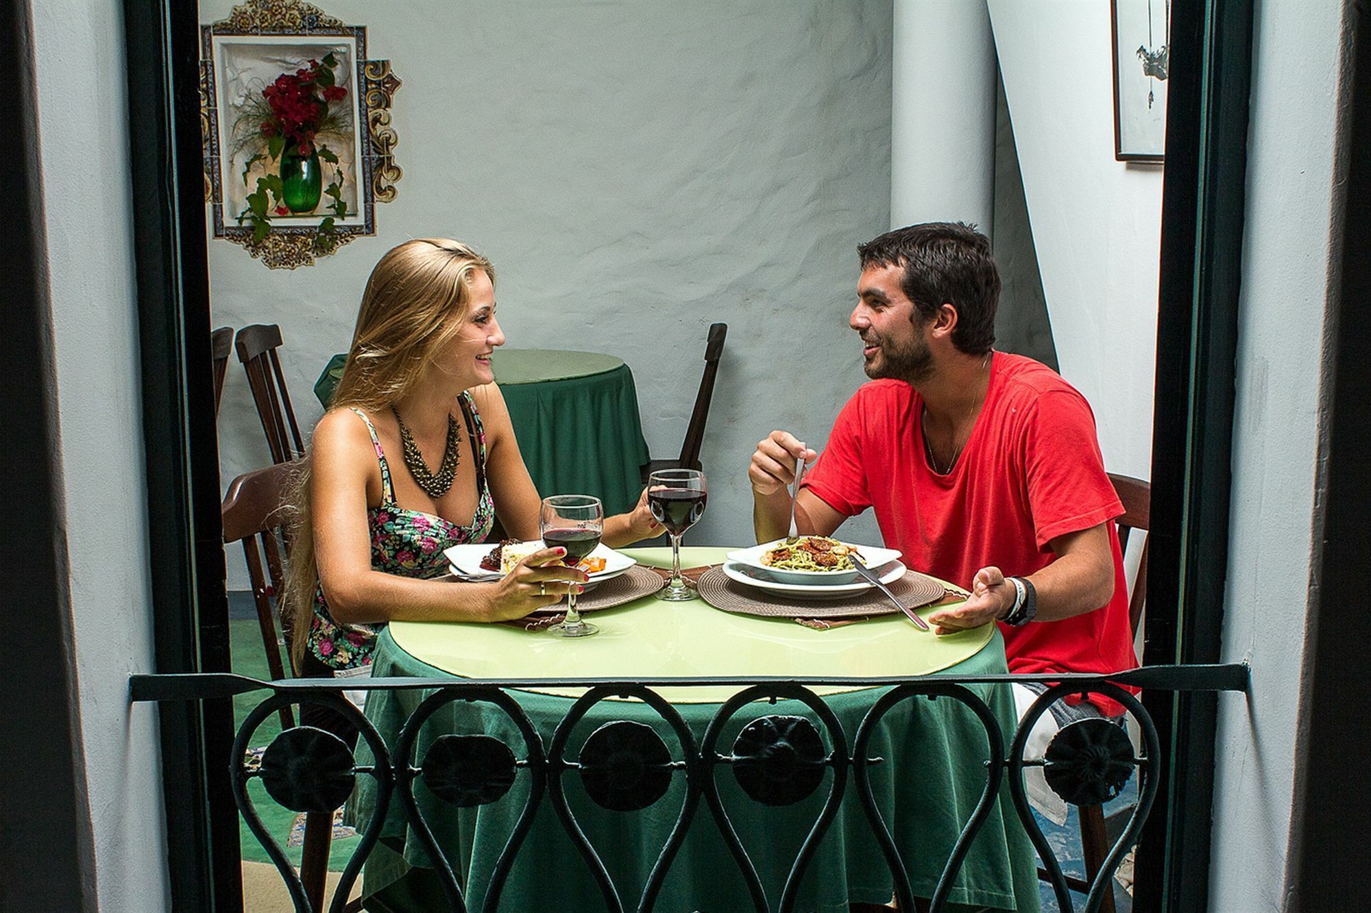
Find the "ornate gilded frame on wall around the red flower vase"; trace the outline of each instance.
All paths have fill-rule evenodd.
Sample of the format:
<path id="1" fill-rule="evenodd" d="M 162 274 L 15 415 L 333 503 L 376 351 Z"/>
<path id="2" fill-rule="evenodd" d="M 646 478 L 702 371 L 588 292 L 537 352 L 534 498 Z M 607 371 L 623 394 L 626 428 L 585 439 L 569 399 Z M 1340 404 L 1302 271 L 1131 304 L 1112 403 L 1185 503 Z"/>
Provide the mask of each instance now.
<path id="1" fill-rule="evenodd" d="M 300 208 L 287 207 L 281 178 L 295 144 L 270 141 L 271 130 L 260 122 L 269 108 L 263 90 L 324 70 L 318 84 L 326 78 L 332 95 L 318 101 L 329 115 L 328 133 L 321 127 L 317 143 L 325 160 L 314 158 L 311 167 L 326 175 L 326 196 L 315 191 L 313 208 L 308 197 Z M 395 199 L 402 177 L 391 126 L 399 86 L 389 60 L 367 59 L 365 26 L 345 25 L 303 0 L 250 0 L 202 26 L 204 199 L 214 237 L 243 245 L 270 269 L 295 269 L 354 237 L 376 234 L 376 204 Z M 313 130 L 308 136 L 313 147 Z"/>

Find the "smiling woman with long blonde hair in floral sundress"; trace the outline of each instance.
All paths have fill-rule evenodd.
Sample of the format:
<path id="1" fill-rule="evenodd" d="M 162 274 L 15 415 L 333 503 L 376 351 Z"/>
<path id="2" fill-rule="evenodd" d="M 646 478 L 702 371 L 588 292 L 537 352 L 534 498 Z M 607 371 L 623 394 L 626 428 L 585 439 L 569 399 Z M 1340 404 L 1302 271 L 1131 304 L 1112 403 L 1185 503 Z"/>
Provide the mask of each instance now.
<path id="1" fill-rule="evenodd" d="M 565 548 L 499 583 L 451 583 L 443 550 L 483 541 L 499 513 L 537 539 L 539 494 L 495 385 L 495 270 L 458 241 L 389 251 L 362 297 L 333 403 L 314 429 L 287 583 L 302 674 L 367 665 L 388 621 L 502 621 L 557 603 L 587 580 Z M 624 546 L 661 532 L 646 496 L 605 520 Z"/>

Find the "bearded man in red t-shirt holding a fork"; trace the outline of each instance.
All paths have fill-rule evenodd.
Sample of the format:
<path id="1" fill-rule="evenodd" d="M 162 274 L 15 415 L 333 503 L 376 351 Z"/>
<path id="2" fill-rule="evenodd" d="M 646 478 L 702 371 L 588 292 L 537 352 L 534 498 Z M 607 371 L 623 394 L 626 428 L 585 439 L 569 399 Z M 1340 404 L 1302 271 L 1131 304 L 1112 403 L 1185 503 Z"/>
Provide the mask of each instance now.
<path id="1" fill-rule="evenodd" d="M 839 413 L 805 474 L 799 532 L 829 535 L 873 507 L 906 565 L 971 589 L 965 603 L 931 616 L 936 633 L 998 621 L 1012 672 L 1138 665 L 1111 522 L 1123 504 L 1094 417 L 1052 369 L 993 350 L 999 276 L 990 241 L 965 225 L 928 223 L 857 252 L 849 325 L 873 382 Z M 753 454 L 758 541 L 787 532 L 799 458 L 816 452 L 780 430 Z M 1121 713 L 1113 701 L 1091 701 L 1058 703 L 1058 722 Z"/>

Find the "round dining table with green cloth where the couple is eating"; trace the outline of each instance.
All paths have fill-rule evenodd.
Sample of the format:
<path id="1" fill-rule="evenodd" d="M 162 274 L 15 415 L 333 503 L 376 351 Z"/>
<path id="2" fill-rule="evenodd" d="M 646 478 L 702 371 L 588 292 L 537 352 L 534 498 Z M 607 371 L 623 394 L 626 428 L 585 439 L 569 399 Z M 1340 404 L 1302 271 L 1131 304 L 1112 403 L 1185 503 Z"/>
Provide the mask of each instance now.
<path id="1" fill-rule="evenodd" d="M 629 548 L 640 563 L 669 568 L 669 548 Z M 683 565 L 723 561 L 720 548 L 683 548 Z M 921 610 L 928 614 L 931 610 Z M 659 602 L 651 596 L 595 611 L 600 633 L 588 639 L 561 639 L 509 625 L 392 622 L 380 635 L 373 661 L 376 676 L 444 676 L 477 679 L 647 679 L 664 676 L 913 676 L 934 672 L 965 676 L 1005 673 L 1004 640 L 994 625 L 936 637 L 916 629 L 903 616 L 872 617 L 858 624 L 816 631 L 791 618 L 762 618 L 725 613 L 695 599 Z M 1016 725 L 1015 703 L 1005 685 L 972 684 L 995 714 L 1005 740 Z M 720 703 L 736 687 L 662 688 L 661 694 L 702 738 Z M 836 714 L 851 750 L 857 725 L 888 688 L 824 688 L 814 691 Z M 373 691 L 366 716 L 393 744 L 409 714 L 432 691 Z M 581 690 L 510 692 L 528 713 L 544 746 Z M 799 701 L 758 702 L 740 709 L 724 729 L 718 746 L 727 753 L 739 729 L 769 714 L 803 716 L 823 733 L 824 725 Z M 636 701 L 600 702 L 572 736 L 569 757 L 590 732 L 610 720 L 632 720 L 653 727 L 679 757 L 670 727 Z M 483 702 L 448 703 L 429 718 L 420 735 L 415 758 L 441 735 L 485 733 L 509 744 L 515 754 L 522 738 L 500 710 Z M 828 742 L 825 736 L 825 743 Z M 880 721 L 869 757 L 877 805 L 909 872 L 916 895 L 931 897 L 958 833 L 969 820 L 984 786 L 988 754 L 984 729 L 972 711 L 950 699 L 906 699 Z M 829 746 L 831 748 L 831 746 Z M 359 746 L 358 761 L 370 755 Z M 768 902 L 780 897 L 790 865 L 827 796 L 832 773 L 809 798 L 783 807 L 750 799 L 716 769 L 720 794 L 738 835 L 761 877 Z M 628 908 L 647 881 L 654 862 L 680 812 L 684 775 L 657 803 L 640 812 L 610 812 L 596 806 L 574 776 L 563 775 L 573 813 L 605 861 L 620 898 Z M 480 809 L 444 806 L 426 788 L 415 798 L 448 854 L 466 892 L 468 909 L 481 909 L 489 876 L 528 796 L 528 777 L 498 802 Z M 370 777 L 361 777 L 348 806 L 352 820 L 366 821 L 374 802 Z M 381 842 L 366 865 L 363 894 L 369 910 L 447 909 L 446 897 L 420 840 L 410 833 L 398 802 L 392 802 Z M 954 905 L 993 909 L 1038 909 L 1036 860 L 1013 812 L 1008 788 L 1001 788 L 954 883 Z M 871 824 L 849 779 L 838 817 L 809 862 L 795 909 L 847 910 L 850 902 L 887 903 L 894 881 Z M 657 910 L 724 910 L 750 908 L 743 876 L 705 803 L 691 821 L 687 839 L 672 862 Z M 570 839 L 544 796 L 510 877 L 500 894 L 502 910 L 602 910 L 605 901 Z"/>

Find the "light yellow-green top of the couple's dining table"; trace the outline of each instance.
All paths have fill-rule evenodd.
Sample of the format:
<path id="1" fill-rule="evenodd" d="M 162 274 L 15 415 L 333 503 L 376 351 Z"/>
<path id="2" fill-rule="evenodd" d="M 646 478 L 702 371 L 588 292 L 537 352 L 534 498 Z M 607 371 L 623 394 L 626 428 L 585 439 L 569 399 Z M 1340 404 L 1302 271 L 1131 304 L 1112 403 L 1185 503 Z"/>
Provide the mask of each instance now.
<path id="1" fill-rule="evenodd" d="M 639 563 L 670 568 L 670 548 L 625 548 Z M 683 548 L 681 566 L 717 563 L 724 548 Z M 924 609 L 928 616 L 932 609 Z M 916 628 L 899 613 L 814 631 L 792 618 L 721 611 L 702 599 L 651 596 L 590 613 L 600 632 L 569 640 L 507 625 L 389 625 L 396 646 L 415 659 L 473 679 L 650 676 L 914 676 L 941 672 L 990 642 L 991 625 L 949 636 Z M 613 670 L 611 673 L 609 670 Z M 672 703 L 721 703 L 735 688 L 673 688 Z M 835 694 L 842 688 L 818 688 Z M 547 694 L 577 695 L 577 690 Z"/>

